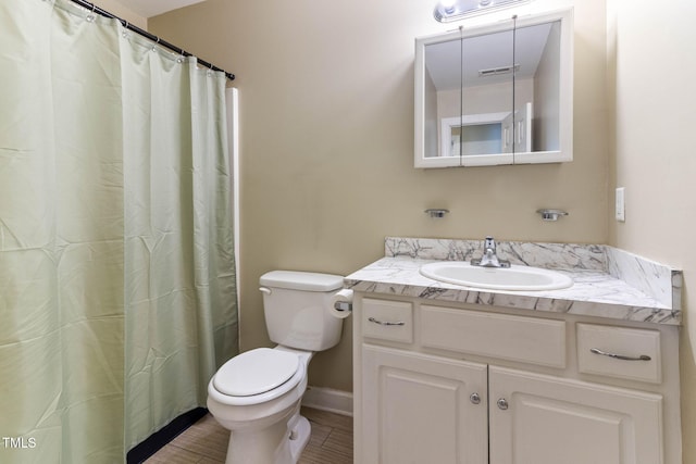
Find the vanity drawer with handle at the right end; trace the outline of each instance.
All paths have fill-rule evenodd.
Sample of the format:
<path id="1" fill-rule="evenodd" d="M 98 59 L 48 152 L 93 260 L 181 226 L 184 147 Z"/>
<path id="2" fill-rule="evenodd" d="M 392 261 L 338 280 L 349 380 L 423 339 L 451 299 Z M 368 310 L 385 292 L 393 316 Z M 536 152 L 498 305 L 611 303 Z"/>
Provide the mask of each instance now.
<path id="1" fill-rule="evenodd" d="M 660 360 L 658 330 L 577 324 L 577 369 L 583 374 L 660 384 Z"/>

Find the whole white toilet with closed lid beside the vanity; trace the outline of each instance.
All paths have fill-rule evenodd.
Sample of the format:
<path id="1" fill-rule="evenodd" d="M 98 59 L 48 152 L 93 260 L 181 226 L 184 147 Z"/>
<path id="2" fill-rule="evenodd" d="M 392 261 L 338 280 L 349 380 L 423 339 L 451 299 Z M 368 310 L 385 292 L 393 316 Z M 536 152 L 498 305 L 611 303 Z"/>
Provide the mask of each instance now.
<path id="1" fill-rule="evenodd" d="M 299 414 L 309 362 L 340 340 L 343 319 L 330 309 L 344 278 L 272 271 L 259 281 L 269 335 L 278 344 L 227 361 L 208 385 L 208 410 L 232 431 L 227 464 L 294 464 L 310 436 Z"/>

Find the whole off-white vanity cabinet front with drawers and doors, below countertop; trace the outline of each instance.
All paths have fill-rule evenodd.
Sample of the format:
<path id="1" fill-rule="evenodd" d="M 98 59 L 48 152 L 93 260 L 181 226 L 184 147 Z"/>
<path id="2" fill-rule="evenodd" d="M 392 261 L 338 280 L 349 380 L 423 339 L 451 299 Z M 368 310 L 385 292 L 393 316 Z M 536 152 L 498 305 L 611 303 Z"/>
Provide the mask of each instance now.
<path id="1" fill-rule="evenodd" d="M 353 337 L 356 463 L 681 464 L 674 326 L 357 292 Z"/>

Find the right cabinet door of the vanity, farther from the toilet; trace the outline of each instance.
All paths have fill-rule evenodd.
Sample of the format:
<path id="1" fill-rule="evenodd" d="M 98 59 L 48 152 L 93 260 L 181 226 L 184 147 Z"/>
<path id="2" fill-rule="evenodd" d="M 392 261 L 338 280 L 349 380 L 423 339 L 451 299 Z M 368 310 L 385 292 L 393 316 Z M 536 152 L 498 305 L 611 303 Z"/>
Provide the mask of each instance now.
<path id="1" fill-rule="evenodd" d="M 660 464 L 662 397 L 489 367 L 490 463 Z"/>

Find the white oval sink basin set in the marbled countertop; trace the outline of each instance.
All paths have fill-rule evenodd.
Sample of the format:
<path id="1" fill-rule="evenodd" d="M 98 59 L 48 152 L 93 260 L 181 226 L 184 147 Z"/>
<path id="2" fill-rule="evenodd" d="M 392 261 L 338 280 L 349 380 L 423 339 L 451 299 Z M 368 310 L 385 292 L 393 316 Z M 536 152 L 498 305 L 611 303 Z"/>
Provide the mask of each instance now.
<path id="1" fill-rule="evenodd" d="M 555 271 L 531 266 L 482 267 L 463 261 L 424 264 L 425 277 L 448 284 L 492 290 L 558 290 L 573 285 L 573 279 Z"/>

